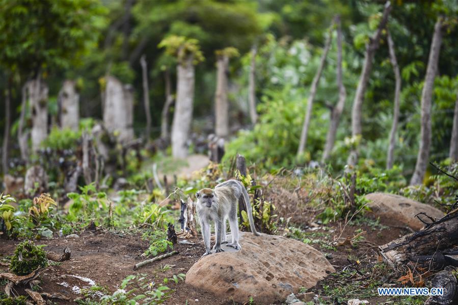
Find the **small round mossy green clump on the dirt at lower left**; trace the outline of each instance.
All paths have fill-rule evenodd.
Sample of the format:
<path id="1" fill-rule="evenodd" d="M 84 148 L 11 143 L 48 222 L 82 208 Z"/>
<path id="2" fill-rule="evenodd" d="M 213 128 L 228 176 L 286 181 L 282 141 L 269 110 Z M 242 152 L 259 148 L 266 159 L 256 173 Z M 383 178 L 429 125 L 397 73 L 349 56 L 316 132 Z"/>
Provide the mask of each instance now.
<path id="1" fill-rule="evenodd" d="M 42 246 L 36 246 L 33 241 L 26 240 L 17 245 L 10 270 L 16 275 L 28 275 L 35 269 L 47 265 L 46 252 Z"/>

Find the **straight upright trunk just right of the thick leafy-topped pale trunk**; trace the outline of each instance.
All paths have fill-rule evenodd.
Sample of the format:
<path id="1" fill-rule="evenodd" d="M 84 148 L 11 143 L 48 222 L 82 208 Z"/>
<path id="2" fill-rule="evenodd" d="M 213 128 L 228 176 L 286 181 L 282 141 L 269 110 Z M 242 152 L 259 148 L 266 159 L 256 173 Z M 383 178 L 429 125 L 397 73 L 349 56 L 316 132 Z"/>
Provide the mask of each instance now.
<path id="1" fill-rule="evenodd" d="M 229 135 L 229 105 L 227 101 L 227 74 L 229 57 L 220 56 L 217 61 L 217 90 L 215 96 L 215 134 L 226 138 Z"/>

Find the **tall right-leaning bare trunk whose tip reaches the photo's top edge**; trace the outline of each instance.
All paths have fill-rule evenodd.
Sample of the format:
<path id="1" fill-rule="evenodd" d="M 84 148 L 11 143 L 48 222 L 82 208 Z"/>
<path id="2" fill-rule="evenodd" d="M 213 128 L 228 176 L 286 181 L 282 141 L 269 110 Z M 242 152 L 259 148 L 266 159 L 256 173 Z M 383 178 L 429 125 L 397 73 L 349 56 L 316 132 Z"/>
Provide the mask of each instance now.
<path id="1" fill-rule="evenodd" d="M 366 44 L 366 54 L 364 56 L 363 70 L 361 71 L 361 76 L 358 82 L 358 87 L 356 89 L 355 100 L 353 101 L 353 110 L 352 110 L 352 136 L 353 138 L 361 137 L 362 127 L 361 127 L 361 111 L 363 107 L 364 94 L 366 93 L 367 82 L 369 81 L 370 71 L 372 70 L 372 61 L 374 59 L 375 50 L 379 48 L 380 36 L 382 35 L 382 30 L 385 29 L 388 22 L 388 15 L 391 11 L 391 4 L 389 1 L 385 4 L 383 10 L 382 20 L 380 20 L 379 27 L 375 32 L 375 35 L 370 38 L 368 44 Z M 354 147 L 348 156 L 347 164 L 356 165 L 358 163 L 359 157 L 359 143 Z"/>

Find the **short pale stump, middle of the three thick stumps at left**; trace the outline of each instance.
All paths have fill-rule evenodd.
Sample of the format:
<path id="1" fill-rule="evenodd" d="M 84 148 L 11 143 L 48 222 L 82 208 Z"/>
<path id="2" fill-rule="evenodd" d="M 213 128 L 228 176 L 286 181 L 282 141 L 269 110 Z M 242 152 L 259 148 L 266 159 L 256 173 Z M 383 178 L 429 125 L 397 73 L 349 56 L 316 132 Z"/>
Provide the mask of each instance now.
<path id="1" fill-rule="evenodd" d="M 74 81 L 65 81 L 59 92 L 59 121 L 61 128 L 78 131 L 79 128 L 79 94 Z"/>

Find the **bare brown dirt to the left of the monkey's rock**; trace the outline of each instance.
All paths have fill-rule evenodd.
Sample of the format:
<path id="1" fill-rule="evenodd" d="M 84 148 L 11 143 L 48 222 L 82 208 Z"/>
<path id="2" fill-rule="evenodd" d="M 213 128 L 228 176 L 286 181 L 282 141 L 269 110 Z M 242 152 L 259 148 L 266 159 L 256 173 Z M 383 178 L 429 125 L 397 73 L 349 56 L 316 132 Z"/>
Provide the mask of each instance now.
<path id="1" fill-rule="evenodd" d="M 0 240 L 0 258 L 10 256 L 19 241 Z M 68 276 L 77 275 L 92 279 L 97 286 L 105 287 L 110 293 L 119 288 L 122 280 L 130 274 L 145 273 L 148 281 L 160 283 L 164 277 L 172 277 L 174 274 L 186 273 L 191 266 L 200 258 L 203 248 L 196 245 L 177 244 L 174 249 L 178 255 L 163 259 L 153 264 L 133 271 L 132 267 L 145 260 L 140 255 L 148 247 L 138 235 L 120 237 L 112 234 L 84 233 L 80 238 L 54 238 L 50 240 L 37 241 L 38 245 L 46 245 L 45 250 L 61 252 L 65 247 L 72 251 L 70 261 L 62 262 L 60 265 L 47 267 L 42 275 L 41 292 L 61 293 L 71 299 L 81 297 L 75 293 L 74 287 L 90 287 L 87 282 L 79 278 Z M 165 265 L 172 268 L 163 271 Z M 7 271 L 6 267 L 0 267 Z M 63 277 L 65 276 L 65 277 Z M 66 284 L 62 284 L 66 283 Z M 61 285 L 62 284 L 62 285 Z M 166 304 L 232 304 L 229 300 L 215 298 L 212 294 L 188 287 L 183 282 L 175 284 L 169 282 L 167 285 L 174 292 L 166 300 Z M 23 291 L 18 291 L 24 294 Z M 198 301 L 196 301 L 196 299 Z M 61 304 L 75 304 L 75 302 L 58 302 Z"/>

